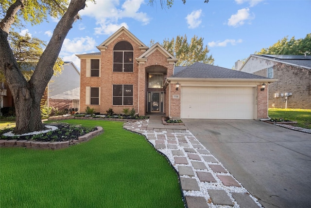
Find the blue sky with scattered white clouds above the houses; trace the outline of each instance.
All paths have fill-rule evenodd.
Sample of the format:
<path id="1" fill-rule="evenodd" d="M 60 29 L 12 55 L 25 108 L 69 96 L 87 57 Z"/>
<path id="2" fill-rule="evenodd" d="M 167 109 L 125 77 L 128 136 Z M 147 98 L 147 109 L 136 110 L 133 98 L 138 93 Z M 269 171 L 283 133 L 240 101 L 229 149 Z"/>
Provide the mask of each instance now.
<path id="1" fill-rule="evenodd" d="M 99 52 L 96 46 L 125 26 L 147 46 L 178 35 L 189 41 L 204 38 L 214 65 L 231 69 L 235 61 L 267 48 L 288 36 L 311 33 L 311 0 L 174 0 L 162 9 L 158 0 L 96 0 L 87 3 L 64 41 L 60 57 L 80 68 L 75 54 Z M 49 18 L 21 33 L 49 41 L 58 19 Z"/>

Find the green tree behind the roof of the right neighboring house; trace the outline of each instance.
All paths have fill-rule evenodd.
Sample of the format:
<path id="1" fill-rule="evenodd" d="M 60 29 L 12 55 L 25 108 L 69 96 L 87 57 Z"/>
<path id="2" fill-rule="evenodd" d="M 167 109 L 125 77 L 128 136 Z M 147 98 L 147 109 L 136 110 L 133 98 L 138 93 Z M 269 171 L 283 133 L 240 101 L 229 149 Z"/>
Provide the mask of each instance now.
<path id="1" fill-rule="evenodd" d="M 311 33 L 300 39 L 284 37 L 269 48 L 262 48 L 259 52 L 255 52 L 255 54 L 259 55 L 304 55 L 305 53 L 306 55 L 311 53 Z"/>

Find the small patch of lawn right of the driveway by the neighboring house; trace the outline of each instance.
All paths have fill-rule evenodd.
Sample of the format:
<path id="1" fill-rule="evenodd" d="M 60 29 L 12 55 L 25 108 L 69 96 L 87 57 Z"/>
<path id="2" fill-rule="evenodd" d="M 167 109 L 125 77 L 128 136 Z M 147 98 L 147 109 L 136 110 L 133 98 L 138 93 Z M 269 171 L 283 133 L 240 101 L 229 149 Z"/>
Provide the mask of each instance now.
<path id="1" fill-rule="evenodd" d="M 297 121 L 297 124 L 295 126 L 311 129 L 311 110 L 308 109 L 272 108 L 269 109 L 269 117 Z"/>

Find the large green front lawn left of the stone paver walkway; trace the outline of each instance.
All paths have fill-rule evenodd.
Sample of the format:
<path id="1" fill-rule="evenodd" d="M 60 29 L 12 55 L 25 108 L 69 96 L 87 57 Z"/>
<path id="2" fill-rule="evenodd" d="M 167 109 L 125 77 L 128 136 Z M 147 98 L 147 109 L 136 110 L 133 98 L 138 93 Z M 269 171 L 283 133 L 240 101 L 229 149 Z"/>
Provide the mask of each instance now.
<path id="1" fill-rule="evenodd" d="M 183 208 L 177 174 L 122 122 L 66 120 L 104 133 L 61 150 L 0 148 L 0 207 Z"/>

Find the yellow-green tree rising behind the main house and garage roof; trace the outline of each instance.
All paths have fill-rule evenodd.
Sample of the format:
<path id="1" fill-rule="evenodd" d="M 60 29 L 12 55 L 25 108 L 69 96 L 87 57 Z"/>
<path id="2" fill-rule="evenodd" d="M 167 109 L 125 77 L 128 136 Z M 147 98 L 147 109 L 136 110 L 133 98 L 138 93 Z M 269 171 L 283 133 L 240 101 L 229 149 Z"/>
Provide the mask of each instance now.
<path id="1" fill-rule="evenodd" d="M 195 62 L 214 64 L 212 55 L 208 56 L 207 45 L 203 44 L 204 38 L 193 36 L 188 43 L 187 36 L 164 39 L 162 46 L 174 57 L 178 58 L 176 66 L 189 66 Z"/>

